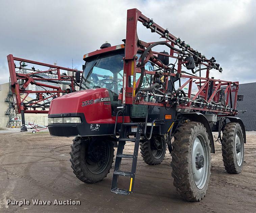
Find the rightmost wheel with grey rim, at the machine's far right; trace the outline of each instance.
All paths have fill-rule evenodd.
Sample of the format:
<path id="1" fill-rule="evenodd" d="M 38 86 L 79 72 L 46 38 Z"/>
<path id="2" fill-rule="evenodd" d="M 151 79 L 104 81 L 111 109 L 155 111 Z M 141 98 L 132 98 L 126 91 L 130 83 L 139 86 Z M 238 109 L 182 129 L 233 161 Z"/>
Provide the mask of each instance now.
<path id="1" fill-rule="evenodd" d="M 230 122 L 223 130 L 222 156 L 228 173 L 238 174 L 244 164 L 244 137 L 239 123 Z"/>

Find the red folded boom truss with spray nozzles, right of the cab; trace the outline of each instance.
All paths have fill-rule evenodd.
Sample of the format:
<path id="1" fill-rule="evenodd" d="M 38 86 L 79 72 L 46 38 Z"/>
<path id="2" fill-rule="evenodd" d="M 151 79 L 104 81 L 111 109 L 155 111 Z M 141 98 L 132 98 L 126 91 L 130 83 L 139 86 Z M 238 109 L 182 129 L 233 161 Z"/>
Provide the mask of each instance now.
<path id="1" fill-rule="evenodd" d="M 187 78 L 187 81 L 180 85 L 180 89 L 182 89 L 184 86 L 188 85 L 188 95 L 187 98 L 190 99 L 187 104 L 178 104 L 178 108 L 180 109 L 190 109 L 190 110 L 201 110 L 201 111 L 210 111 L 214 113 L 222 113 L 222 114 L 229 114 L 229 115 L 235 115 L 237 114 L 236 111 L 236 101 L 237 101 L 237 93 L 239 88 L 239 82 L 232 82 L 232 81 L 226 81 L 226 80 L 220 80 L 220 79 L 213 79 L 209 77 L 210 69 L 214 68 L 216 70 L 219 70 L 222 72 L 222 69 L 219 68 L 219 64 L 214 64 L 212 59 L 207 59 L 204 55 L 199 53 L 198 51 L 195 51 L 193 48 L 191 48 L 189 45 L 185 44 L 184 42 L 178 42 L 180 40 L 179 38 L 175 37 L 169 31 L 166 29 L 163 29 L 156 23 L 153 23 L 152 19 L 149 19 L 145 15 L 142 14 L 137 9 L 130 9 L 127 10 L 127 25 L 126 25 L 126 43 L 125 43 L 125 63 L 124 63 L 124 84 L 123 84 L 123 94 L 122 94 L 122 103 L 123 104 L 144 104 L 144 105 L 155 105 L 155 106 L 170 106 L 165 103 L 152 103 L 152 102 L 146 102 L 143 100 L 138 101 L 136 99 L 135 91 L 138 87 L 139 79 L 136 81 L 136 73 L 141 73 L 141 69 L 137 67 L 137 62 L 140 61 L 136 57 L 137 52 L 140 50 L 142 52 L 145 51 L 147 47 L 149 47 L 151 43 L 144 42 L 142 40 L 139 40 L 137 35 L 137 23 L 143 23 L 144 26 L 149 28 L 151 32 L 158 33 L 161 38 L 165 39 L 166 42 L 170 42 L 170 44 L 174 46 L 178 46 L 178 48 L 181 48 L 182 50 L 189 53 L 191 56 L 195 56 L 195 52 L 197 54 L 197 58 L 200 59 L 200 62 L 198 65 L 202 67 L 205 67 L 201 70 L 206 70 L 205 77 L 202 77 L 201 70 L 200 70 L 200 76 L 194 76 L 194 75 L 187 75 L 182 73 L 182 65 L 184 65 L 184 62 L 179 52 L 170 49 L 170 54 L 163 54 L 161 52 L 155 52 L 155 51 L 149 51 L 145 63 L 149 60 L 157 66 L 162 67 L 164 69 L 167 69 L 167 66 L 160 63 L 157 59 L 154 58 L 155 54 L 167 56 L 170 58 L 177 59 L 177 73 L 169 73 L 164 72 L 164 77 L 167 80 L 167 84 L 165 85 L 165 90 L 168 89 L 168 78 L 169 77 L 176 77 L 176 78 Z M 213 58 L 214 59 L 214 58 Z M 169 68 L 169 67 L 168 67 Z M 154 75 L 154 71 L 145 71 L 146 74 L 152 74 Z M 133 82 L 131 84 L 130 79 L 133 76 Z M 196 84 L 198 85 L 198 93 L 191 98 L 191 91 L 192 91 L 192 83 L 193 81 L 196 81 Z M 208 95 L 209 87 L 212 86 L 212 94 L 210 96 Z M 225 93 L 225 104 L 229 105 L 229 107 L 223 107 L 218 109 L 213 109 L 211 107 L 212 101 L 219 100 L 220 97 L 220 89 L 224 87 L 224 93 Z M 231 93 L 234 93 L 234 100 L 232 101 Z M 202 97 L 206 100 L 207 106 L 198 108 L 195 106 L 195 100 L 197 97 Z M 224 109 L 225 108 L 225 109 Z M 221 115 L 219 115 L 221 116 Z"/>

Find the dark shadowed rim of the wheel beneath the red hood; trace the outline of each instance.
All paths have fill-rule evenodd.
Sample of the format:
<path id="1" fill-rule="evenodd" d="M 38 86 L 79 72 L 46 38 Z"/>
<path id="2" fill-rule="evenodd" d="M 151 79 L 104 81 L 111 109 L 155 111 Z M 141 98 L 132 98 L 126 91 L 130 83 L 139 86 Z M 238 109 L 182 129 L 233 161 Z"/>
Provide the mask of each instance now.
<path id="1" fill-rule="evenodd" d="M 110 158 L 110 147 L 105 142 L 90 142 L 85 148 L 85 165 L 93 174 L 102 173 Z"/>

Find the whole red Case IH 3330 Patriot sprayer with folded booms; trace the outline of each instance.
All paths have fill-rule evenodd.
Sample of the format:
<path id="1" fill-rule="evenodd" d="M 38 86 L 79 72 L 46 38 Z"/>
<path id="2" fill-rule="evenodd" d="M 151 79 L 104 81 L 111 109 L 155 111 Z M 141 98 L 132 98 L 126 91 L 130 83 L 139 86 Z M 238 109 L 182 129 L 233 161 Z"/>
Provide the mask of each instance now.
<path id="1" fill-rule="evenodd" d="M 163 41 L 139 40 L 138 22 Z M 133 192 L 139 147 L 149 165 L 160 164 L 168 147 L 177 192 L 188 201 L 199 201 L 206 194 L 211 174 L 210 153 L 215 152 L 212 132 L 219 133 L 226 171 L 240 173 L 243 166 L 246 134 L 243 122 L 235 117 L 238 82 L 210 78 L 210 70 L 222 72 L 213 57 L 207 59 L 137 9 L 127 11 L 123 41 L 117 46 L 105 43 L 101 49 L 85 54 L 81 78 L 80 72 L 70 70 L 76 72 L 69 76 L 71 89 L 74 91 L 74 83 L 80 83 L 80 91 L 59 96 L 54 89 L 59 97 L 50 104 L 50 134 L 75 137 L 71 167 L 85 183 L 96 183 L 107 176 L 113 147 L 117 147 L 111 185 L 111 191 L 117 194 Z M 152 50 L 159 45 L 170 51 Z M 22 60 L 8 57 L 13 73 L 14 60 Z M 169 63 L 170 58 L 174 63 Z M 34 83 L 38 80 L 30 77 Z M 64 77 L 58 76 L 59 80 Z M 24 88 L 21 90 L 16 81 L 12 81 L 12 91 L 17 98 Z M 17 102 L 20 112 L 34 103 Z M 134 142 L 133 154 L 123 152 L 126 141 Z M 131 159 L 131 171 L 120 168 L 123 158 Z M 120 176 L 129 177 L 127 189 L 118 187 Z"/>

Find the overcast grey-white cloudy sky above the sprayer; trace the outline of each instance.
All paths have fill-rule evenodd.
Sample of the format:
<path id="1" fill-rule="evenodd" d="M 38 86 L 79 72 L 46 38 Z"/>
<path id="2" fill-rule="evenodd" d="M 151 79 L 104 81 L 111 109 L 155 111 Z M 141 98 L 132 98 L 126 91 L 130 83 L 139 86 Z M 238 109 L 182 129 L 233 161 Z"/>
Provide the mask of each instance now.
<path id="1" fill-rule="evenodd" d="M 0 0 L 0 83 L 8 81 L 6 56 L 81 70 L 84 54 L 125 38 L 126 10 L 137 8 L 207 58 L 215 57 L 223 80 L 256 81 L 255 0 L 5 1 Z M 140 25 L 140 23 L 139 23 Z M 139 39 L 157 41 L 144 27 Z"/>

